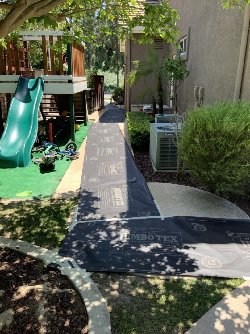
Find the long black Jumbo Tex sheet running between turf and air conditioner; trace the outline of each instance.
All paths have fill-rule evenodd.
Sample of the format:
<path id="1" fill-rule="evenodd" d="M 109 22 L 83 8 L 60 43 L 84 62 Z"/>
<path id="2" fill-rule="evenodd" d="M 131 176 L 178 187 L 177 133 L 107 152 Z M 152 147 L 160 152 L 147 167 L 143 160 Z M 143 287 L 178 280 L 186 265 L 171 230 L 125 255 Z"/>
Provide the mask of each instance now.
<path id="1" fill-rule="evenodd" d="M 160 216 L 117 123 L 90 124 L 77 220 Z"/>

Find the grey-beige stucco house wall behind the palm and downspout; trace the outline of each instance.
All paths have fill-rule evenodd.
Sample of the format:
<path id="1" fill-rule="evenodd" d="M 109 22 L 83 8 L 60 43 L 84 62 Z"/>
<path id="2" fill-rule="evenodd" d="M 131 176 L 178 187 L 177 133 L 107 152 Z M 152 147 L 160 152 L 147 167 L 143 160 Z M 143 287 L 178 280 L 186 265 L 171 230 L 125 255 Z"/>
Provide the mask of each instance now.
<path id="1" fill-rule="evenodd" d="M 178 90 L 180 110 L 183 112 L 188 108 L 194 108 L 195 86 L 205 87 L 203 102 L 206 104 L 224 99 L 232 101 L 244 13 L 238 8 L 222 9 L 220 0 L 172 0 L 171 7 L 175 8 L 180 15 L 177 27 L 181 35 L 178 39 L 188 33 L 188 54 L 182 57 L 190 71 L 190 76 L 182 82 Z M 136 38 L 139 38 L 139 35 L 134 34 Z M 127 47 L 127 52 L 129 50 L 127 73 L 133 68 L 132 62 L 142 59 L 152 45 L 135 44 L 130 40 L 126 43 L 130 43 Z M 178 56 L 176 47 L 164 41 L 162 53 L 165 52 Z M 147 80 L 146 85 L 150 85 L 150 81 L 150 79 Z M 137 103 L 137 97 L 143 87 L 144 84 L 141 82 L 129 90 L 129 107 Z M 250 100 L 250 33 L 240 97 Z M 164 103 L 169 105 L 169 102 L 169 96 L 166 94 Z M 128 106 L 126 110 L 128 111 Z"/>

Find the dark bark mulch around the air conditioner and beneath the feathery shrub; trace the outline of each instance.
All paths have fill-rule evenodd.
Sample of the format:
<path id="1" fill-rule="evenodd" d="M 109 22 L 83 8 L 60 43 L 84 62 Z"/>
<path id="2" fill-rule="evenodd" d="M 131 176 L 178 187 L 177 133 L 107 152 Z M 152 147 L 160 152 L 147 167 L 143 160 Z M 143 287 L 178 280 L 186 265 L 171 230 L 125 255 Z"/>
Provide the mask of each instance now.
<path id="1" fill-rule="evenodd" d="M 208 189 L 201 187 L 195 180 L 192 179 L 192 176 L 188 173 L 185 174 L 183 181 L 176 180 L 175 173 L 155 173 L 149 158 L 149 152 L 137 151 L 135 149 L 133 149 L 133 151 L 137 165 L 142 172 L 146 182 L 183 184 L 185 186 L 209 191 Z M 230 197 L 227 199 L 241 208 L 248 216 L 250 216 L 250 193 L 244 196 Z"/>

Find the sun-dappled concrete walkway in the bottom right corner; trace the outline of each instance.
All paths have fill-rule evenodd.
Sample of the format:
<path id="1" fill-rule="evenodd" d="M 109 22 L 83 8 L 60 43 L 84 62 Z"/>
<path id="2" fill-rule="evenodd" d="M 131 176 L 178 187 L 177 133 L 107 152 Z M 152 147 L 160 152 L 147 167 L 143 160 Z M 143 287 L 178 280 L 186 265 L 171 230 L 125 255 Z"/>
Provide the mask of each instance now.
<path id="1" fill-rule="evenodd" d="M 250 281 L 206 312 L 185 334 L 250 334 Z"/>

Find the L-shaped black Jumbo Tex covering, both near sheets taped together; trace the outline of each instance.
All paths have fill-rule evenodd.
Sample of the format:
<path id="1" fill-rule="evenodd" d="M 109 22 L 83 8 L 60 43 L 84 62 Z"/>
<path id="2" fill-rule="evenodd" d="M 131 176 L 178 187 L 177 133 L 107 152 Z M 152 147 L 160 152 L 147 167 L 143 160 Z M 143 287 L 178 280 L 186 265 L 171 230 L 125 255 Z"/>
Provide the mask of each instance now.
<path id="1" fill-rule="evenodd" d="M 250 220 L 161 217 L 115 123 L 89 127 L 78 204 L 59 255 L 82 269 L 250 278 Z"/>

